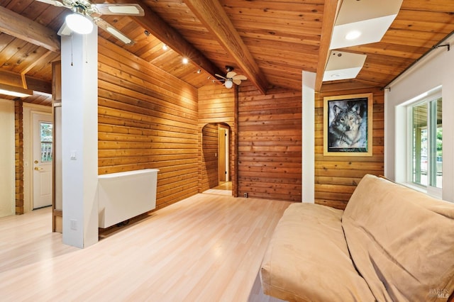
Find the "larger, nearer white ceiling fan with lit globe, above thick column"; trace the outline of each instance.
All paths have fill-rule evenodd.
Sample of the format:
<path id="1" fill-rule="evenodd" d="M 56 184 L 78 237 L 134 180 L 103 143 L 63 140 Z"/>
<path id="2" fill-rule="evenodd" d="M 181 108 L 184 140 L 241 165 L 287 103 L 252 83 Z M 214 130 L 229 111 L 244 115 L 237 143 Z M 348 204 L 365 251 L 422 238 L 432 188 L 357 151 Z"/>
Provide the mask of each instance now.
<path id="1" fill-rule="evenodd" d="M 93 23 L 114 35 L 123 43 L 131 45 L 133 40 L 109 23 L 99 18 L 101 15 L 144 16 L 138 4 L 92 4 L 89 0 L 36 0 L 53 6 L 66 7 L 72 13 L 66 16 L 67 26 L 80 34 L 91 33 Z"/>

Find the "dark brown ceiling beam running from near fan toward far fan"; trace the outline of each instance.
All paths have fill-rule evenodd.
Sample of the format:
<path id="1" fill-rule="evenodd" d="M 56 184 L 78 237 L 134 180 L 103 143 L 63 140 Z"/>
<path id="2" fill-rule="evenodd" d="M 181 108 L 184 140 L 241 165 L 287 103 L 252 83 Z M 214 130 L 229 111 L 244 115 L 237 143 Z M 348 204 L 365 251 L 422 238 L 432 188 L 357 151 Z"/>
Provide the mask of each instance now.
<path id="1" fill-rule="evenodd" d="M 115 3 L 131 3 L 131 0 L 117 0 L 111 1 Z M 135 23 L 148 30 L 148 32 L 154 35 L 162 43 L 165 43 L 168 47 L 172 48 L 175 52 L 183 57 L 187 57 L 192 64 L 204 70 L 204 72 L 211 74 L 220 73 L 221 69 L 216 67 L 213 62 L 208 60 L 199 50 L 197 50 L 191 43 L 185 40 L 175 28 L 169 26 L 160 16 L 158 16 L 150 7 L 145 4 L 142 0 L 135 0 L 135 3 L 139 4 L 145 16 L 143 17 L 131 17 Z"/>

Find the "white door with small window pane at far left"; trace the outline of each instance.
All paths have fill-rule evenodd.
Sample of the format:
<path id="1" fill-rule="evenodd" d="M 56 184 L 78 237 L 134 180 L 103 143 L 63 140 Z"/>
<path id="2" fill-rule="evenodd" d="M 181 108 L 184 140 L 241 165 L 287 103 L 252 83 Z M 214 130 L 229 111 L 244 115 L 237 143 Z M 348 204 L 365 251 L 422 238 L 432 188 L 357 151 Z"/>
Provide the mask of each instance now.
<path id="1" fill-rule="evenodd" d="M 33 113 L 33 209 L 52 204 L 52 115 Z"/>

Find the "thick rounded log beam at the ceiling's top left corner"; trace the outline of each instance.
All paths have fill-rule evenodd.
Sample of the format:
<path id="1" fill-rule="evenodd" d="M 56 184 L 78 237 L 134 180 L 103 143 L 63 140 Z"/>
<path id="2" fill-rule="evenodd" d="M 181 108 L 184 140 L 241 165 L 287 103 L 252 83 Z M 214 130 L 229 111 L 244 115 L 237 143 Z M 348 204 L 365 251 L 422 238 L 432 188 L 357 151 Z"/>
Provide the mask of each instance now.
<path id="1" fill-rule="evenodd" d="M 3 6 L 0 6 L 0 31 L 52 52 L 60 52 L 60 38 L 53 30 Z"/>

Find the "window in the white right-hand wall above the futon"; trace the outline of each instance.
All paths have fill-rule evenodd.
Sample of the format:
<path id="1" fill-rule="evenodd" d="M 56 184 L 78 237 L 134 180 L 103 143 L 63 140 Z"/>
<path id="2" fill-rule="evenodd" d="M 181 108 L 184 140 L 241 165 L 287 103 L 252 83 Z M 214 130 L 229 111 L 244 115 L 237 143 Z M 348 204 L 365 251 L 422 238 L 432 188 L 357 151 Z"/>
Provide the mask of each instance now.
<path id="1" fill-rule="evenodd" d="M 440 92 L 440 91 L 438 91 Z M 422 101 L 408 106 L 410 117 L 409 150 L 411 182 L 427 191 L 442 187 L 443 177 L 443 123 L 440 93 L 431 94 Z"/>

